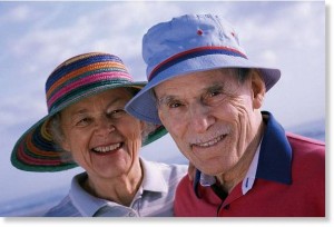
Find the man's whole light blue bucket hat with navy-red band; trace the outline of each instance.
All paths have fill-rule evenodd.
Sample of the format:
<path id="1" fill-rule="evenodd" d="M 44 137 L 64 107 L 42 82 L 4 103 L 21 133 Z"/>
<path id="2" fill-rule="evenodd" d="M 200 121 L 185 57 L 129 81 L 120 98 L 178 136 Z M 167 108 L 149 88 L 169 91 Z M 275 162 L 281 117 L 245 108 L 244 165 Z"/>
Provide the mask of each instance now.
<path id="1" fill-rule="evenodd" d="M 279 79 L 278 69 L 252 62 L 229 22 L 213 14 L 185 14 L 151 27 L 143 38 L 148 83 L 126 106 L 145 121 L 161 124 L 151 89 L 181 75 L 218 68 L 256 68 L 268 91 Z"/>

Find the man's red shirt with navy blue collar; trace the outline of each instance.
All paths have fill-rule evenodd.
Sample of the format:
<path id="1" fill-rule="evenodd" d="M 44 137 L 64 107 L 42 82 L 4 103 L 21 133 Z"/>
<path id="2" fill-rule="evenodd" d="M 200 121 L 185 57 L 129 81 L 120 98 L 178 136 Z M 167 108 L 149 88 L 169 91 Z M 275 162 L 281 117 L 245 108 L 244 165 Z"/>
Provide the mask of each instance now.
<path id="1" fill-rule="evenodd" d="M 325 145 L 297 135 L 285 136 L 283 128 L 267 115 L 253 188 L 243 195 L 240 182 L 223 201 L 210 187 L 198 185 L 198 198 L 186 176 L 176 190 L 176 216 L 325 216 Z"/>

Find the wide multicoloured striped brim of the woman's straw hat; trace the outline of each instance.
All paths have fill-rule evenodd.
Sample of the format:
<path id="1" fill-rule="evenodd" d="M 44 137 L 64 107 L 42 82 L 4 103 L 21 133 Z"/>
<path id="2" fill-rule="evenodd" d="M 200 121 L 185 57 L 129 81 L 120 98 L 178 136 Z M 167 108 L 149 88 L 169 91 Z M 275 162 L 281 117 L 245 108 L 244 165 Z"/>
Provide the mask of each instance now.
<path id="1" fill-rule="evenodd" d="M 47 125 L 51 117 L 66 107 L 99 92 L 115 88 L 137 88 L 140 90 L 145 85 L 146 82 L 105 85 L 99 89 L 86 91 L 82 96 L 79 96 L 80 98 L 71 100 L 57 109 L 52 109 L 49 115 L 30 127 L 16 142 L 10 158 L 11 164 L 21 170 L 40 172 L 61 171 L 77 167 L 78 165 L 71 158 L 71 154 L 57 146 L 52 136 L 47 130 Z M 163 126 L 157 127 L 155 131 L 148 135 L 143 146 L 159 139 L 166 134 L 167 130 Z"/>

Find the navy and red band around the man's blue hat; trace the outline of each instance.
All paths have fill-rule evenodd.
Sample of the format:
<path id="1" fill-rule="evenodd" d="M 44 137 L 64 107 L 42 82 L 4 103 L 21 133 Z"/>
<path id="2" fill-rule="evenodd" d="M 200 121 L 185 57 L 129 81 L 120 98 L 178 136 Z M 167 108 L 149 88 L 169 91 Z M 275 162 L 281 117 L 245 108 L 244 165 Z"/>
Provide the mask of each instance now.
<path id="1" fill-rule="evenodd" d="M 151 79 L 154 79 L 159 72 L 164 71 L 165 69 L 190 58 L 196 58 L 199 56 L 206 56 L 206 55 L 225 55 L 225 56 L 235 56 L 235 57 L 240 57 L 240 58 L 245 58 L 247 59 L 246 55 L 233 49 L 233 48 L 228 48 L 228 47 L 199 47 L 199 48 L 195 48 L 191 50 L 187 50 L 184 52 L 179 52 L 175 56 L 171 56 L 170 58 L 166 59 L 165 61 L 163 61 L 161 63 L 159 63 L 158 66 L 156 66 L 156 68 L 154 68 L 154 70 L 150 72 L 150 75 L 148 76 L 148 81 L 150 81 Z"/>

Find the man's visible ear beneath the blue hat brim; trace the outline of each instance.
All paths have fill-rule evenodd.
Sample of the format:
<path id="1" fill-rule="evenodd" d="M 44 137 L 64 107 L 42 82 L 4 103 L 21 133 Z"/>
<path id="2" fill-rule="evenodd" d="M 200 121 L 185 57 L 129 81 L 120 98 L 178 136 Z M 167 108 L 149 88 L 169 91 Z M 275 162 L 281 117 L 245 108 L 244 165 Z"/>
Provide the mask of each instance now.
<path id="1" fill-rule="evenodd" d="M 259 109 L 264 103 L 266 86 L 262 79 L 259 70 L 250 71 L 252 90 L 253 90 L 253 108 Z"/>

